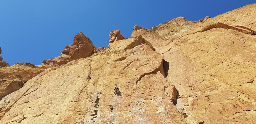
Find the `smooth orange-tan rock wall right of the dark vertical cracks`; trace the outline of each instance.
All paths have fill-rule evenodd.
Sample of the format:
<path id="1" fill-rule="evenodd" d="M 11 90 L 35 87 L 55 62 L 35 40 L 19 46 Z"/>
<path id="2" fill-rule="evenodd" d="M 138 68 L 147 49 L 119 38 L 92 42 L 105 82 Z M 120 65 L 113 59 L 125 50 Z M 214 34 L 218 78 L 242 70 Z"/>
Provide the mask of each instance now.
<path id="1" fill-rule="evenodd" d="M 133 30 L 169 63 L 167 79 L 179 91 L 176 107 L 187 123 L 256 122 L 255 9 L 249 4 L 204 23 L 176 23 L 179 17 L 159 25 L 177 35 L 161 35 L 158 27 Z M 181 24 L 189 30 L 182 32 Z"/>

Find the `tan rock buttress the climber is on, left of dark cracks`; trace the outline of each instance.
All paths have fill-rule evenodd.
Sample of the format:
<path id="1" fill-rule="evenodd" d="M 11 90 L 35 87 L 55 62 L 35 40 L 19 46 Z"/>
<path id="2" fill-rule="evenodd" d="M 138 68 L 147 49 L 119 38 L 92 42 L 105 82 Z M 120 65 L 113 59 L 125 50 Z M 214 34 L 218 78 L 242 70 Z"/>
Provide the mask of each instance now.
<path id="1" fill-rule="evenodd" d="M 90 57 L 46 69 L 5 96 L 1 122 L 185 123 L 173 105 L 177 92 L 164 77 L 163 61 L 141 36 L 116 41 Z"/>

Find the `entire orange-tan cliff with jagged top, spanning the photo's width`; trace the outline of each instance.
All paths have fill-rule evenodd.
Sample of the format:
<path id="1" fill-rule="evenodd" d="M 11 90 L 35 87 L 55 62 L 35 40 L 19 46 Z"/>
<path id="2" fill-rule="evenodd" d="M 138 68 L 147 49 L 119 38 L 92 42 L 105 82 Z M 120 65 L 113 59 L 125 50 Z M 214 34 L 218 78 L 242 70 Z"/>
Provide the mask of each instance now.
<path id="1" fill-rule="evenodd" d="M 44 62 L 57 66 L 26 83 L 8 77 L 24 86 L 2 98 L 0 122 L 256 123 L 255 10 L 134 26 L 127 39 L 114 30 L 97 50 L 79 33 Z"/>

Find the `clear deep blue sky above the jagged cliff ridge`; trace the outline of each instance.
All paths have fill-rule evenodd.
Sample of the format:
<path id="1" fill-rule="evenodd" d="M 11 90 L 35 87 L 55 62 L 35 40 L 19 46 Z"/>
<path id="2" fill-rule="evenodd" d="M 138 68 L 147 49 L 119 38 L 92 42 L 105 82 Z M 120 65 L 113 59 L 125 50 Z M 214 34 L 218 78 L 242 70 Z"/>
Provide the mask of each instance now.
<path id="1" fill-rule="evenodd" d="M 255 0 L 2 0 L 1 56 L 10 65 L 40 65 L 59 56 L 80 31 L 98 48 L 108 46 L 111 30 L 127 38 L 134 25 L 151 28 L 179 16 L 197 21 L 251 3 Z"/>

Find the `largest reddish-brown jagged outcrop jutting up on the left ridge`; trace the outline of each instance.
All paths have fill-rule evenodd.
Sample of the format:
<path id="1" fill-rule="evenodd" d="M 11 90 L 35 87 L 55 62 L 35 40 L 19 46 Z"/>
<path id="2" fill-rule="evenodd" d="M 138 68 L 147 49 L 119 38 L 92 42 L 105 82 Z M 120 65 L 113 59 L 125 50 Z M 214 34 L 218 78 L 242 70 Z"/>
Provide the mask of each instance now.
<path id="1" fill-rule="evenodd" d="M 65 49 L 62 50 L 60 56 L 44 60 L 42 64 L 61 66 L 72 60 L 89 57 L 92 55 L 94 50 L 96 50 L 96 48 L 93 46 L 92 41 L 88 37 L 84 36 L 82 32 L 79 32 L 74 37 L 74 43 L 67 45 Z"/>

